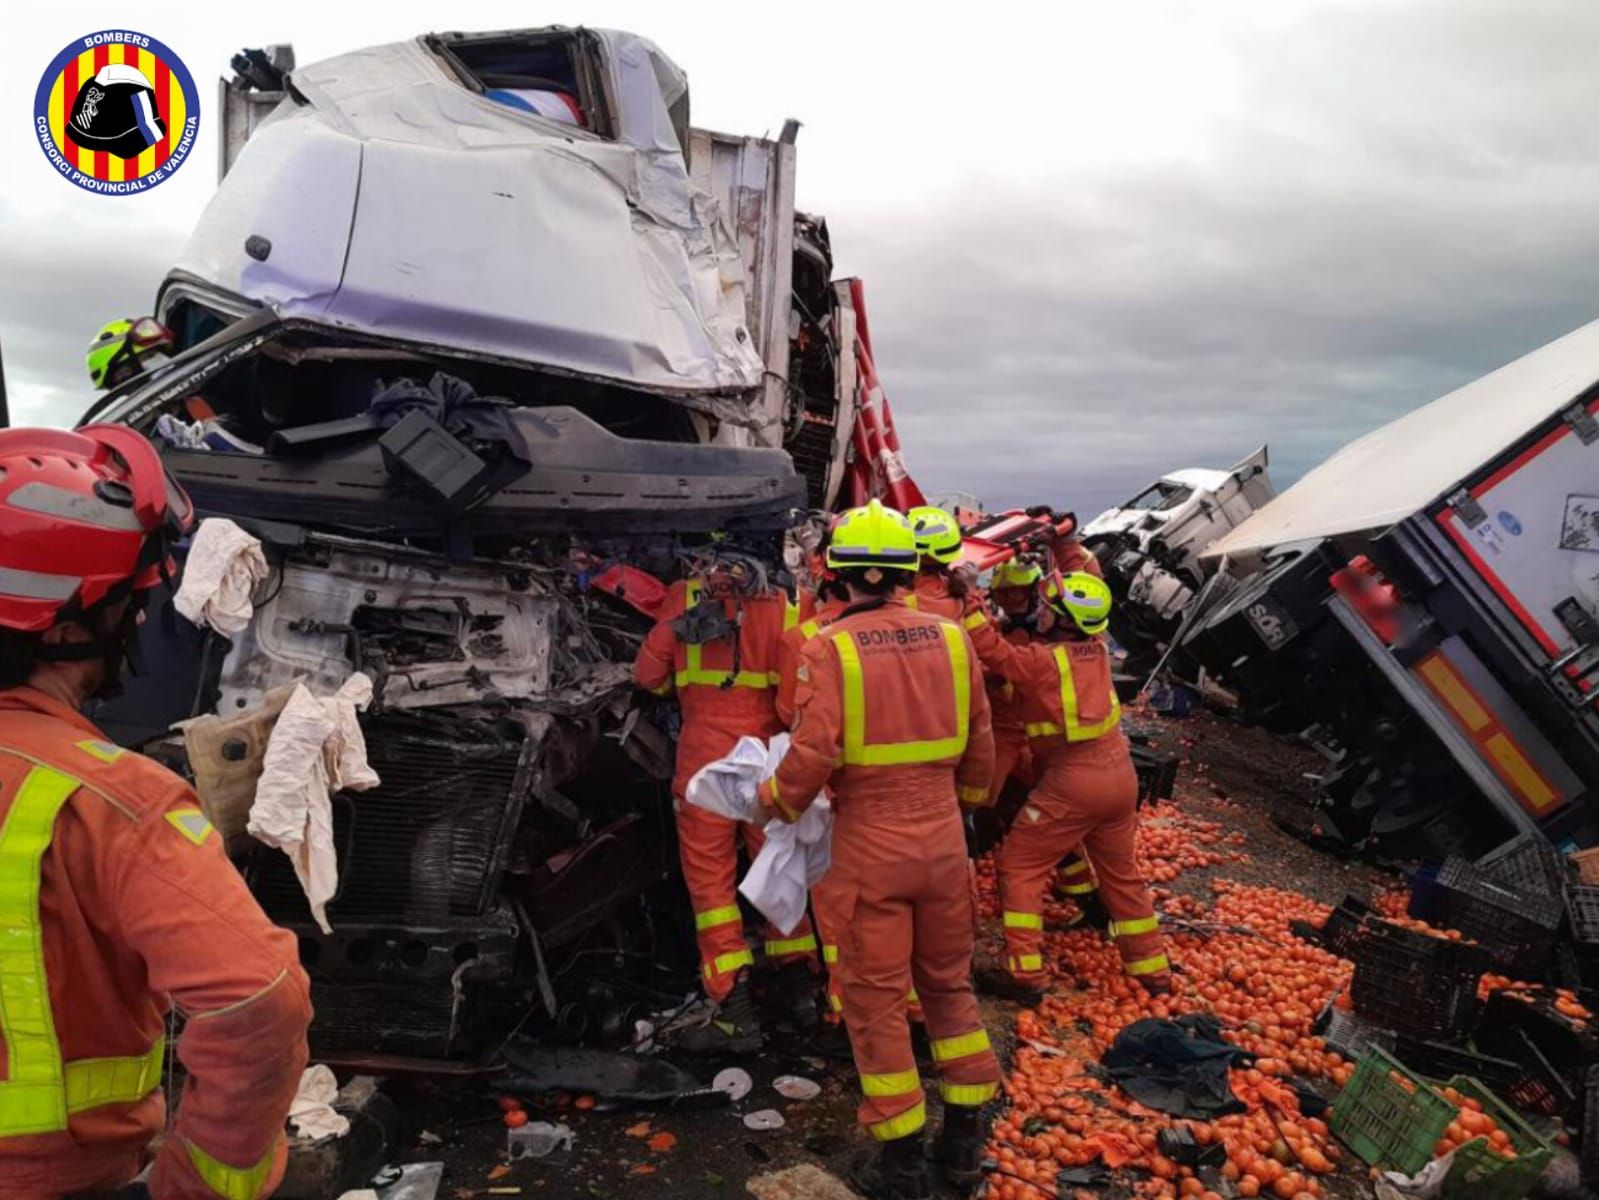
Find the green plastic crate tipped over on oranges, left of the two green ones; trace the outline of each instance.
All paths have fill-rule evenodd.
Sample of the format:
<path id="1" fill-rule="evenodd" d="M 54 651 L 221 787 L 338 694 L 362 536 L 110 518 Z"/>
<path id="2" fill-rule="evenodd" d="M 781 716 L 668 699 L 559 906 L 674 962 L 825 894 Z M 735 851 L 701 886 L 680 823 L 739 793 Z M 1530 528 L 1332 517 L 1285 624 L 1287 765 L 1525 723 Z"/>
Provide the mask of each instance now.
<path id="1" fill-rule="evenodd" d="M 1431 1162 L 1434 1142 L 1453 1118 L 1455 1107 L 1425 1078 L 1393 1054 L 1374 1048 L 1334 1101 L 1330 1126 L 1370 1166 L 1415 1174 Z"/>

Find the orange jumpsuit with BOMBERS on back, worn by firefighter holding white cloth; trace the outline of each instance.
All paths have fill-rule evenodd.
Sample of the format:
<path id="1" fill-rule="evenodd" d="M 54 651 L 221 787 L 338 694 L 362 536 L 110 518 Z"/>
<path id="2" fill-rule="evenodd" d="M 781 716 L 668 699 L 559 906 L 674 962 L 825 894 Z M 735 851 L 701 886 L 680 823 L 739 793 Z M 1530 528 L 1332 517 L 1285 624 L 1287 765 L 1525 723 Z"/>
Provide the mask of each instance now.
<path id="1" fill-rule="evenodd" d="M 831 784 L 844 1024 L 883 1139 L 926 1123 L 905 994 L 915 981 L 947 1104 L 980 1106 L 999 1064 L 972 995 L 959 797 L 993 773 L 982 669 L 959 624 L 894 597 L 801 651 L 793 744 L 761 802 L 795 821 Z"/>

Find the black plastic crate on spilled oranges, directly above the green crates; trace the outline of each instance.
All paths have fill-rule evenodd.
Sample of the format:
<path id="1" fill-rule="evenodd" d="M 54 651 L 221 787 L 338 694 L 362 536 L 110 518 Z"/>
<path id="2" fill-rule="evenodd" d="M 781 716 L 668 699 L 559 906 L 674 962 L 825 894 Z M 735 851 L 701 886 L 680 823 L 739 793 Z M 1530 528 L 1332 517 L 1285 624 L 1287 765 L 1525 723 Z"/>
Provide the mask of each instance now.
<path id="1" fill-rule="evenodd" d="M 1484 970 L 1477 947 L 1367 918 L 1350 958 L 1350 998 L 1367 1021 L 1422 1040 L 1471 1032 Z"/>

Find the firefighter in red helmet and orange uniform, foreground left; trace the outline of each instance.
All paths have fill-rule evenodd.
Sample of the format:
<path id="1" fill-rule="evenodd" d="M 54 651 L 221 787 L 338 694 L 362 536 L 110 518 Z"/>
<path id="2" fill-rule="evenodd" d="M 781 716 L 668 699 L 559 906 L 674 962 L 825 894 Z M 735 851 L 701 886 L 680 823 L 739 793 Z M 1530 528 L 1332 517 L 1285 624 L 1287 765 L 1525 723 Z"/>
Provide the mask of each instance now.
<path id="1" fill-rule="evenodd" d="M 123 426 L 0 430 L 0 1195 L 256 1200 L 310 998 L 190 787 L 82 714 L 138 666 L 189 499 Z M 187 1018 L 166 1123 L 165 1021 Z"/>

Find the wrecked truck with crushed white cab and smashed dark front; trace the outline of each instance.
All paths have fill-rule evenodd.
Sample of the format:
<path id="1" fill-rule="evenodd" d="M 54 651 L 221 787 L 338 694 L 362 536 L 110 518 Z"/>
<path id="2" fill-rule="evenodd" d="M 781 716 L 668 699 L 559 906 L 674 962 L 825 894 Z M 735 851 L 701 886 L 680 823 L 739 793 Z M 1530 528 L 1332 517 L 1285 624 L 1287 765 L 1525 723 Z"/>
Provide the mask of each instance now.
<path id="1" fill-rule="evenodd" d="M 664 584 L 792 584 L 787 531 L 875 478 L 860 288 L 793 210 L 796 126 L 692 128 L 683 74 L 612 30 L 235 69 L 157 298 L 177 352 L 85 419 L 155 438 L 270 573 L 230 638 L 152 621 L 152 672 L 98 717 L 248 800 L 285 685 L 365 672 L 382 782 L 334 800 L 333 931 L 238 843 L 318 1051 L 622 1038 L 694 982 L 675 715 L 630 685 Z"/>

